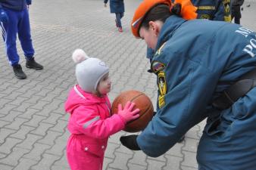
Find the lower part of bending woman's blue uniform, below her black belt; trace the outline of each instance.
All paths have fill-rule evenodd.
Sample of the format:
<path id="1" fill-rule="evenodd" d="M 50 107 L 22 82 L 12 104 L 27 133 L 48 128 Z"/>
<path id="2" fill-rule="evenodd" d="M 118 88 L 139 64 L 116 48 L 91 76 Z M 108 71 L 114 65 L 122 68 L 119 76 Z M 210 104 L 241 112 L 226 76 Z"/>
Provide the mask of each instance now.
<path id="1" fill-rule="evenodd" d="M 198 145 L 200 170 L 256 169 L 256 88 L 209 118 Z"/>

